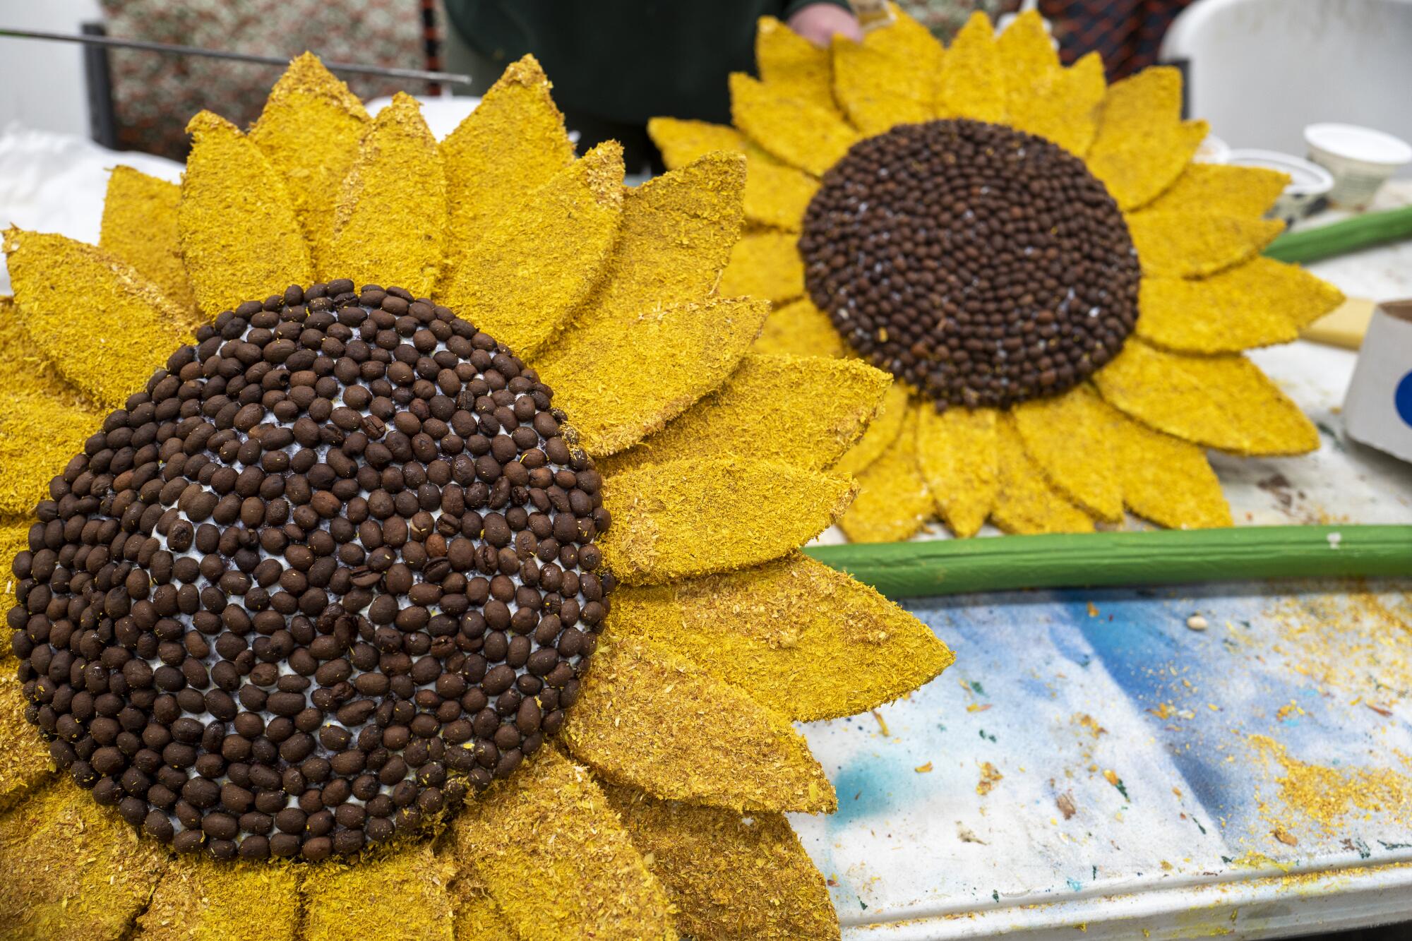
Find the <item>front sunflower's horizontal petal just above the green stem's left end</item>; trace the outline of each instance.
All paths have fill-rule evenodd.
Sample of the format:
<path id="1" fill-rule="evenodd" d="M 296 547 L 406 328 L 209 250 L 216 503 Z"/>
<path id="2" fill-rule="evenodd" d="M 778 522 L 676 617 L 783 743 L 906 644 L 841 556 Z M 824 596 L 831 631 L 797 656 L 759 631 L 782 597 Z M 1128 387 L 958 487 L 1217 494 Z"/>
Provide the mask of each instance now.
<path id="1" fill-rule="evenodd" d="M 638 468 L 603 489 L 603 557 L 637 585 L 758 565 L 827 528 L 853 493 L 844 478 L 736 455 Z"/>

